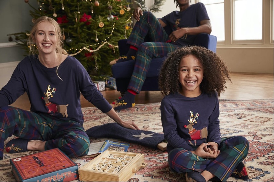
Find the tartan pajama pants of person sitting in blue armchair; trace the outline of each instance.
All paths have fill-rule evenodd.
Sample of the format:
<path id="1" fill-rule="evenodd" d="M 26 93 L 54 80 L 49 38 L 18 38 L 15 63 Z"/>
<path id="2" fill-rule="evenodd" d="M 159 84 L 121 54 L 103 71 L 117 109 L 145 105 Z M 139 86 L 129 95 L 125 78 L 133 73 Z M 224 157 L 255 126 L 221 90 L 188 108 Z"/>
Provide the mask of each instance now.
<path id="1" fill-rule="evenodd" d="M 149 37 L 149 42 L 144 42 L 144 37 Z M 151 12 L 143 12 L 143 16 L 140 16 L 140 21 L 136 22 L 127 40 L 127 44 L 138 47 L 128 89 L 140 93 L 152 58 L 165 57 L 169 52 L 182 47 L 166 43 L 168 40 L 169 35 L 158 19 Z"/>

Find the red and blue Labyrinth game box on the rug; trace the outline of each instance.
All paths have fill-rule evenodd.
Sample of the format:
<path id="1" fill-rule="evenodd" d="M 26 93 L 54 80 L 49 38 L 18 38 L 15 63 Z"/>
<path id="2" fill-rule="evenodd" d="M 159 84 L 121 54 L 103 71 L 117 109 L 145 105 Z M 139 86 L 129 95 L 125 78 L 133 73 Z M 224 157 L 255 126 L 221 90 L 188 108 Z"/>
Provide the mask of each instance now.
<path id="1" fill-rule="evenodd" d="M 78 165 L 60 149 L 50 149 L 10 159 L 17 181 L 72 181 L 79 178 Z"/>

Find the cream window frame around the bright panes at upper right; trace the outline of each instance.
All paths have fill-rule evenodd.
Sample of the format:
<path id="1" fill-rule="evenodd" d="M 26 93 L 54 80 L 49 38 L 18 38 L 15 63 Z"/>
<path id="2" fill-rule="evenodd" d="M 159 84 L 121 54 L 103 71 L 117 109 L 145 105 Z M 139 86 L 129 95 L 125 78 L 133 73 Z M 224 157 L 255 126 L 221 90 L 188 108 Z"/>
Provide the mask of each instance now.
<path id="1" fill-rule="evenodd" d="M 193 1 L 193 0 L 192 0 Z M 235 0 L 224 0 L 225 41 L 218 47 L 273 47 L 273 0 L 262 0 L 262 40 L 233 40 L 233 6 Z M 197 3 L 199 0 L 194 0 Z M 213 27 L 214 28 L 214 27 Z"/>

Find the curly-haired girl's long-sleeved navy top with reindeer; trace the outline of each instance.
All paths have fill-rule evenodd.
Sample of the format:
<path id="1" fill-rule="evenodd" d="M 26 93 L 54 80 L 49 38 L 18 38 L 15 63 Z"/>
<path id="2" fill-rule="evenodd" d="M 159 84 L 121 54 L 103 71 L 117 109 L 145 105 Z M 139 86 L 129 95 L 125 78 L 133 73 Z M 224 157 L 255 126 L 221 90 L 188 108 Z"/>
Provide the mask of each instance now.
<path id="1" fill-rule="evenodd" d="M 189 98 L 181 94 L 169 94 L 161 102 L 161 119 L 167 151 L 184 148 L 194 151 L 209 141 L 220 144 L 219 100 L 217 93 L 202 93 Z"/>

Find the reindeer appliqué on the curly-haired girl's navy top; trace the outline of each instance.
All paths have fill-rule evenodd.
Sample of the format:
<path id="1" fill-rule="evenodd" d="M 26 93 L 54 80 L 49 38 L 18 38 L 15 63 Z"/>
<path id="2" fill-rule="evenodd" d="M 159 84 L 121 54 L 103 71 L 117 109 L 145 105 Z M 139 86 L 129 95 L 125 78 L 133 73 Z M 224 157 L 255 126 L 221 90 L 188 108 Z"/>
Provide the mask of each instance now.
<path id="1" fill-rule="evenodd" d="M 207 138 L 207 128 L 202 128 L 201 130 L 196 130 L 193 128 L 193 125 L 197 123 L 199 113 L 195 113 L 195 116 L 193 114 L 193 111 L 190 112 L 190 119 L 188 119 L 189 124 L 185 125 L 184 127 L 189 129 L 189 135 L 191 137 L 191 140 L 194 140 L 194 144 L 189 140 L 189 143 L 193 146 L 196 146 L 196 140 L 202 139 L 202 138 Z"/>

